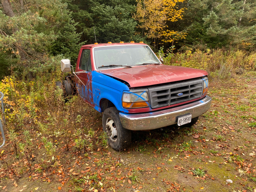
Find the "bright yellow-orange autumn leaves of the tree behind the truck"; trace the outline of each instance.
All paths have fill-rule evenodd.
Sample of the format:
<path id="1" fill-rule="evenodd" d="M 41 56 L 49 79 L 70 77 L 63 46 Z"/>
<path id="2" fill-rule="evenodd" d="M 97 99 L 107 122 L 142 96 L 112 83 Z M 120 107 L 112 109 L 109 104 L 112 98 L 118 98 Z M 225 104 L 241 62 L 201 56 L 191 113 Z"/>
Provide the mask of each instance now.
<path id="1" fill-rule="evenodd" d="M 134 18 L 140 23 L 144 34 L 148 38 L 159 38 L 163 42 L 173 42 L 186 38 L 186 34 L 170 30 L 168 22 L 182 19 L 184 8 L 179 8 L 178 3 L 184 0 L 136 0 L 136 14 Z"/>

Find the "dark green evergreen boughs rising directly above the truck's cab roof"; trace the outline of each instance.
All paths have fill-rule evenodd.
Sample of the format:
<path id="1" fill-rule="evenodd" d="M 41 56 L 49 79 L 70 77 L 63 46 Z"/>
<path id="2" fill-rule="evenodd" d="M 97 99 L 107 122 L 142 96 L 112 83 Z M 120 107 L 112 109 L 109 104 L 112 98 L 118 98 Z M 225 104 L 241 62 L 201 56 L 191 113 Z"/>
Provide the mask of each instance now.
<path id="1" fill-rule="evenodd" d="M 68 1 L 68 8 L 78 22 L 76 28 L 82 33 L 82 40 L 88 44 L 95 42 L 94 29 L 96 40 L 100 43 L 139 42 L 143 39 L 135 35 L 136 22 L 132 18 L 134 4 L 132 0 L 74 0 Z"/>

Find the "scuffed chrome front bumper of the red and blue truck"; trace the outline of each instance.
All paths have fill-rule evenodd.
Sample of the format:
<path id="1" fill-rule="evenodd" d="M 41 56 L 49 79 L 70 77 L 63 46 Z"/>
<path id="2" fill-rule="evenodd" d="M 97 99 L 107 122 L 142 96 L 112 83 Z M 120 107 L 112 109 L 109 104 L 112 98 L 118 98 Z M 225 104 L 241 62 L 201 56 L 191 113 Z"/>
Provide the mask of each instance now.
<path id="1" fill-rule="evenodd" d="M 204 114 L 211 106 L 212 98 L 201 100 L 155 112 L 141 114 L 119 113 L 122 126 L 128 130 L 152 130 L 177 123 L 178 116 L 192 114 L 192 118 Z"/>

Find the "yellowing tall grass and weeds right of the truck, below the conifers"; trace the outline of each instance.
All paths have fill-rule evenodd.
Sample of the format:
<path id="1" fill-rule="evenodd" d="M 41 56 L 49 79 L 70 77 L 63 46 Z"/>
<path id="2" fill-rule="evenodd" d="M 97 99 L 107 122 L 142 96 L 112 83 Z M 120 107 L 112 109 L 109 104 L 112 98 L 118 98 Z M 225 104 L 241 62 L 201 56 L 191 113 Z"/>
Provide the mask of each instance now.
<path id="1" fill-rule="evenodd" d="M 203 69 L 209 73 L 210 78 L 230 78 L 234 74 L 256 71 L 256 52 L 218 48 L 195 52 L 186 50 L 174 54 L 173 50 L 171 47 L 164 52 L 161 48 L 158 52 L 165 64 Z"/>

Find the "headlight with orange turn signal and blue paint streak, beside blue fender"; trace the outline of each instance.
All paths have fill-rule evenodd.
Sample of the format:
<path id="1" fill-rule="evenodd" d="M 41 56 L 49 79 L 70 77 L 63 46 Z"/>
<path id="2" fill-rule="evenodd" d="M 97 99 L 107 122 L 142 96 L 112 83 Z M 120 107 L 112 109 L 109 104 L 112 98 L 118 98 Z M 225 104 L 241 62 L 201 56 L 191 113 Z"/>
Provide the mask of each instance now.
<path id="1" fill-rule="evenodd" d="M 124 108 L 149 107 L 148 93 L 145 91 L 124 93 L 122 97 L 122 105 Z"/>

